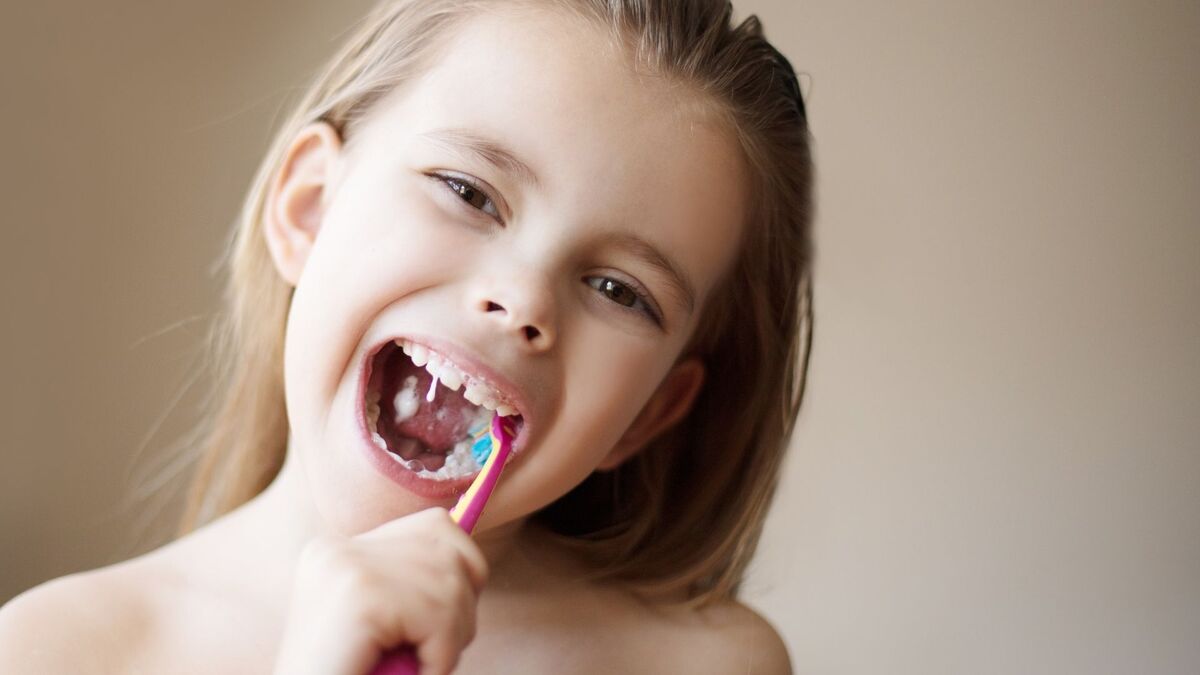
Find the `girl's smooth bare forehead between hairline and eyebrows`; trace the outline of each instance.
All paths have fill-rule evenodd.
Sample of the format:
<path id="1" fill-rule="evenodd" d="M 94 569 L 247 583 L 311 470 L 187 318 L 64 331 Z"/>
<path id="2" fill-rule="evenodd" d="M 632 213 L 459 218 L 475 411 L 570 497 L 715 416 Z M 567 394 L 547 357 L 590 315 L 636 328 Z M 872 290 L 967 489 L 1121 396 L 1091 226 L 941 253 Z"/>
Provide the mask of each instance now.
<path id="1" fill-rule="evenodd" d="M 635 72 L 622 44 L 577 17 L 466 19 L 367 126 L 389 137 L 372 147 L 416 149 L 446 127 L 499 142 L 538 177 L 514 201 L 592 233 L 637 232 L 668 249 L 702 297 L 736 249 L 746 186 L 732 133 L 704 98 Z"/>

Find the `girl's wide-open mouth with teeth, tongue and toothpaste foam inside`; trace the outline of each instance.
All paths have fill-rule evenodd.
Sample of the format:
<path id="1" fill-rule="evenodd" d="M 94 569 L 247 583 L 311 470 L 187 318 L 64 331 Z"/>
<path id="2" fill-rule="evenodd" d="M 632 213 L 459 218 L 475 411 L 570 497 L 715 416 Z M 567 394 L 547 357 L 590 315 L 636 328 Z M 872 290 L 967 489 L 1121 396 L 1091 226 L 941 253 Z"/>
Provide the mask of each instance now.
<path id="1" fill-rule="evenodd" d="M 478 473 L 491 452 L 488 430 L 497 414 L 524 420 L 511 398 L 446 356 L 396 339 L 367 363 L 364 419 L 374 444 L 431 480 Z"/>

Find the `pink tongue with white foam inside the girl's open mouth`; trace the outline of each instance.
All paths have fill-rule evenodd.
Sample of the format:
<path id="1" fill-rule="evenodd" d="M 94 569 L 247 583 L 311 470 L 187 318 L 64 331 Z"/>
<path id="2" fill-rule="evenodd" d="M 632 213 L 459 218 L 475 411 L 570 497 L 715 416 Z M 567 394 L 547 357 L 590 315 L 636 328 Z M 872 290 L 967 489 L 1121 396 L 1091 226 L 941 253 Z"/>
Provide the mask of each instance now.
<path id="1" fill-rule="evenodd" d="M 414 376 L 420 406 L 413 417 L 395 424 L 396 431 L 409 438 L 416 438 L 430 450 L 440 453 L 449 453 L 455 443 L 467 437 L 470 431 L 468 424 L 478 410 L 474 404 L 463 399 L 460 392 L 451 392 L 440 384 L 434 392 L 433 402 L 426 401 L 433 376 L 424 368 L 413 365 L 400 350 L 395 351 L 386 366 L 391 375 L 388 382 L 392 386 L 385 387 L 382 392 L 380 424 L 383 419 L 396 419 L 394 402 L 396 394 L 403 388 L 404 381 Z"/>

